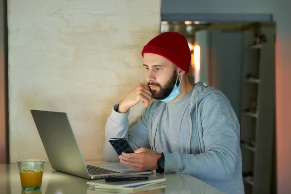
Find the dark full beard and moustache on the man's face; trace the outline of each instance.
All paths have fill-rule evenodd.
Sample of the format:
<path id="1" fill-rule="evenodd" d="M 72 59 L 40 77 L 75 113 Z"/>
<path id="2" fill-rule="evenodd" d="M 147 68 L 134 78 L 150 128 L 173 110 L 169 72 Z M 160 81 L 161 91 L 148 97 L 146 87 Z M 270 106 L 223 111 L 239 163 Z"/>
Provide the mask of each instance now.
<path id="1" fill-rule="evenodd" d="M 156 99 L 156 100 L 162 100 L 162 99 L 165 99 L 166 97 L 168 97 L 171 94 L 171 92 L 172 92 L 172 90 L 173 90 L 173 88 L 175 86 L 177 77 L 178 77 L 178 75 L 177 75 L 177 72 L 176 72 L 176 69 L 175 69 L 174 72 L 173 72 L 172 77 L 170 78 L 170 80 L 167 81 L 163 86 L 161 86 L 160 83 L 148 82 L 147 83 L 148 86 L 152 85 L 152 86 L 157 86 L 157 87 L 160 88 L 159 91 L 151 90 L 149 88 L 149 90 L 152 93 L 152 97 L 154 99 Z M 179 85 L 179 82 L 180 81 L 178 80 L 177 81 L 177 85 Z"/>

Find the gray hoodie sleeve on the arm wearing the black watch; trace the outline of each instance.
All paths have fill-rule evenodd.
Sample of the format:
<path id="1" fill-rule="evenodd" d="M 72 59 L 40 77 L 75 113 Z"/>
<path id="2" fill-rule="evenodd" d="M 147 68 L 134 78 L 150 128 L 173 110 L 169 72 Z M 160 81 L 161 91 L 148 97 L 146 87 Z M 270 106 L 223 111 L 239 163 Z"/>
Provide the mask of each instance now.
<path id="1" fill-rule="evenodd" d="M 187 173 L 202 180 L 228 180 L 233 177 L 237 163 L 240 136 L 237 116 L 228 99 L 215 93 L 205 97 L 197 110 L 201 115 L 196 118 L 198 126 L 199 122 L 202 125 L 205 152 L 164 153 L 164 171 Z"/>

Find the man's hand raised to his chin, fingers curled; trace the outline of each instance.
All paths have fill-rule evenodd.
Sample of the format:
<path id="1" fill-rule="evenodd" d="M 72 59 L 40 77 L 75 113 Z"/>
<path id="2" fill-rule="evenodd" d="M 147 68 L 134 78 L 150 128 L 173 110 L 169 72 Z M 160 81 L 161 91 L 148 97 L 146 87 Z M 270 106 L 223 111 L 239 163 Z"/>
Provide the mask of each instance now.
<path id="1" fill-rule="evenodd" d="M 134 90 L 132 90 L 121 100 L 117 112 L 127 113 L 131 107 L 138 104 L 140 101 L 142 101 L 143 105 L 147 107 L 152 99 L 153 97 L 149 87 L 143 83 L 140 83 Z"/>

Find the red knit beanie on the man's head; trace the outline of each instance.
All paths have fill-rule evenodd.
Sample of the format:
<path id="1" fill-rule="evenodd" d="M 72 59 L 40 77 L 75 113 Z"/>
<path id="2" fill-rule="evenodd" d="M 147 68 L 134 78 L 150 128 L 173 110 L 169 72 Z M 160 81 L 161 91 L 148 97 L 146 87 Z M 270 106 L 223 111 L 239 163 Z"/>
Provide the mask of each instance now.
<path id="1" fill-rule="evenodd" d="M 178 32 L 163 32 L 151 39 L 142 51 L 163 56 L 178 66 L 180 69 L 189 72 L 191 63 L 191 52 L 185 36 Z"/>

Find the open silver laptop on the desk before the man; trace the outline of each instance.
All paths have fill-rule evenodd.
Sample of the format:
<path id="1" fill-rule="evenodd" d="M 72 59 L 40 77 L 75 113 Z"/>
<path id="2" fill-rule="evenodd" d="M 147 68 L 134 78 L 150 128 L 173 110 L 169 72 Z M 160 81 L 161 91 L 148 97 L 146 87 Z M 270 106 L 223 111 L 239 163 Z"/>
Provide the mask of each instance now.
<path id="1" fill-rule="evenodd" d="M 66 113 L 40 110 L 31 113 L 54 170 L 87 179 L 151 174 L 119 162 L 85 164 Z"/>

